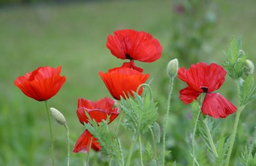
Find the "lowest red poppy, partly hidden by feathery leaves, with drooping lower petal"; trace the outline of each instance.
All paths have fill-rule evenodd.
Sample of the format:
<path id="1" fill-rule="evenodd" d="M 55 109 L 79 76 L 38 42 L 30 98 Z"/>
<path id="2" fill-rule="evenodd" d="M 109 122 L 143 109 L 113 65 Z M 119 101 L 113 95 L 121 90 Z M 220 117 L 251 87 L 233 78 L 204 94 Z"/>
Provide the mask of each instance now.
<path id="1" fill-rule="evenodd" d="M 87 112 L 89 116 L 94 119 L 97 123 L 106 120 L 109 117 L 109 123 L 111 123 L 119 114 L 119 108 L 116 107 L 113 109 L 115 102 L 111 98 L 102 98 L 97 102 L 92 102 L 91 100 L 86 100 L 83 98 L 78 99 L 77 103 L 77 117 L 80 123 L 89 123 L 88 117 L 86 116 Z M 73 152 L 83 152 L 88 153 L 90 141 L 92 139 L 92 134 L 85 130 L 82 135 L 77 139 L 76 145 L 74 146 Z M 92 139 L 92 149 L 95 151 L 100 150 L 100 144 L 97 142 L 97 139 L 93 137 Z"/>

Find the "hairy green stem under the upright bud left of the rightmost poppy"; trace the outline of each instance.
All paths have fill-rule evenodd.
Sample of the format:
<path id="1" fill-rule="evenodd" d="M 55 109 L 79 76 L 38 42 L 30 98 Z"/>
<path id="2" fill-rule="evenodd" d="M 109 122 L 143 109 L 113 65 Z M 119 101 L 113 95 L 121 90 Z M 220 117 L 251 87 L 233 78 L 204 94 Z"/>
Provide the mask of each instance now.
<path id="1" fill-rule="evenodd" d="M 170 110 L 170 103 L 171 103 L 171 98 L 172 98 L 172 91 L 173 91 L 173 79 L 170 79 L 170 91 L 168 94 L 168 101 L 167 101 L 167 109 L 166 109 L 166 114 L 165 114 L 165 121 L 164 121 L 164 126 L 163 126 L 163 160 L 162 160 L 162 165 L 164 165 L 164 153 L 165 153 L 165 135 L 166 135 L 166 126 L 168 122 L 168 117 L 169 117 L 169 110 Z"/>

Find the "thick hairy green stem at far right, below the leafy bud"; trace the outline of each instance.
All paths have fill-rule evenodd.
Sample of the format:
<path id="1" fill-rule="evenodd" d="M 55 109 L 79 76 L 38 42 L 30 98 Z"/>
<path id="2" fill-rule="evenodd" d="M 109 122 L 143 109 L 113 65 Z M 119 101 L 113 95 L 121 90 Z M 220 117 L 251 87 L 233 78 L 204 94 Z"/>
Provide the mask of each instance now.
<path id="1" fill-rule="evenodd" d="M 228 148 L 228 155 L 227 155 L 227 159 L 225 162 L 225 166 L 228 166 L 229 161 L 230 161 L 230 156 L 231 156 L 233 145 L 234 145 L 235 138 L 236 138 L 236 131 L 237 131 L 237 126 L 238 126 L 238 122 L 239 122 L 239 117 L 240 117 L 240 114 L 243 109 L 244 109 L 244 105 L 242 105 L 241 107 L 239 107 L 237 109 L 235 124 L 234 124 L 234 128 L 233 128 L 232 135 L 231 135 L 230 146 Z"/>

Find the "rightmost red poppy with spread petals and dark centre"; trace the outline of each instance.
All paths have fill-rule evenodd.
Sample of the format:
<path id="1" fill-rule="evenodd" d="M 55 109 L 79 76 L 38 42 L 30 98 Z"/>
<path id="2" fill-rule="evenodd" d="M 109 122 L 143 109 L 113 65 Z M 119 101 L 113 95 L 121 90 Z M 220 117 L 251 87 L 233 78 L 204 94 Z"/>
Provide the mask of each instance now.
<path id="1" fill-rule="evenodd" d="M 206 93 L 201 108 L 204 115 L 220 118 L 233 114 L 236 107 L 220 94 L 212 93 L 221 87 L 226 73 L 222 66 L 215 63 L 192 64 L 188 70 L 180 68 L 178 77 L 188 84 L 188 87 L 180 91 L 180 100 L 188 104 L 201 93 Z"/>

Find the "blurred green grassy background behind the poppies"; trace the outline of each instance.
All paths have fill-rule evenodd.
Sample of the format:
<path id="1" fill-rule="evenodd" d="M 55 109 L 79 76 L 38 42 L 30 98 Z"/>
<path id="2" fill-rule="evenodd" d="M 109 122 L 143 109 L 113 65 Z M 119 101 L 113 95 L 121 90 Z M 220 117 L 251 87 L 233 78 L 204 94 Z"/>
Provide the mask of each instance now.
<path id="1" fill-rule="evenodd" d="M 13 84 L 15 78 L 38 66 L 62 66 L 61 75 L 67 77 L 67 82 L 49 105 L 65 115 L 72 149 L 84 130 L 76 116 L 77 98 L 111 97 L 98 72 L 123 63 L 106 48 L 108 35 L 117 29 L 146 31 L 163 45 L 158 61 L 136 62 L 153 79 L 151 87 L 159 102 L 160 124 L 168 91 L 165 67 L 171 59 L 177 57 L 180 66 L 186 68 L 198 61 L 221 64 L 223 50 L 227 50 L 234 34 L 237 38 L 241 36 L 248 59 L 256 61 L 256 2 L 253 0 L 28 2 L 0 1 L 0 165 L 51 165 L 45 105 L 21 93 Z M 226 80 L 219 92 L 236 103 L 235 84 L 228 76 Z M 178 165 L 189 165 L 191 160 L 190 108 L 179 100 L 179 90 L 185 86 L 175 80 L 167 135 L 167 147 L 172 153 L 166 158 L 166 165 L 174 161 Z M 251 103 L 242 113 L 234 155 L 241 153 L 252 135 L 256 117 L 254 106 L 255 103 Z M 228 135 L 234 115 L 216 121 L 223 126 L 221 135 Z M 65 128 L 54 122 L 53 130 L 56 164 L 65 165 Z M 129 148 L 127 138 L 131 133 L 120 132 L 119 135 L 124 147 Z M 146 134 L 144 140 L 148 139 Z M 97 165 L 100 153 L 92 156 L 93 165 Z M 134 158 L 137 157 L 134 153 Z M 204 157 L 209 158 L 203 151 L 199 160 L 203 161 Z M 71 154 L 71 165 L 83 165 L 85 161 L 83 153 Z M 232 158 L 232 165 L 239 165 L 238 157 Z"/>

